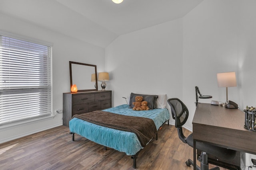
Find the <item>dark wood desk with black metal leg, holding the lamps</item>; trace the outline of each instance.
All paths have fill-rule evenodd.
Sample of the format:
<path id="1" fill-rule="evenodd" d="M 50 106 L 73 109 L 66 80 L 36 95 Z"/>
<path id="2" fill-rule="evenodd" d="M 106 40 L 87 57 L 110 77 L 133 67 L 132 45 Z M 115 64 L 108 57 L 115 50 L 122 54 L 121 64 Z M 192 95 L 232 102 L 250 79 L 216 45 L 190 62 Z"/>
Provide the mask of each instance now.
<path id="1" fill-rule="evenodd" d="M 256 132 L 244 128 L 244 117 L 244 112 L 239 109 L 198 103 L 192 121 L 194 164 L 196 141 L 256 154 Z"/>

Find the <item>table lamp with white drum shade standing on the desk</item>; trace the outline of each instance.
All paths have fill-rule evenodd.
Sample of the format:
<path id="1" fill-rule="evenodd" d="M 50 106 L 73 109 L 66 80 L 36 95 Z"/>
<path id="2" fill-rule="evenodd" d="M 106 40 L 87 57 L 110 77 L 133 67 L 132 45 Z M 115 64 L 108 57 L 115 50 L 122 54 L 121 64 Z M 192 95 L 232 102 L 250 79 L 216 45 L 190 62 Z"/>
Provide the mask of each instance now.
<path id="1" fill-rule="evenodd" d="M 228 100 L 228 87 L 236 87 L 236 72 L 217 73 L 218 87 L 226 87 L 226 103 L 221 104 L 227 108 L 238 108 L 235 102 Z"/>

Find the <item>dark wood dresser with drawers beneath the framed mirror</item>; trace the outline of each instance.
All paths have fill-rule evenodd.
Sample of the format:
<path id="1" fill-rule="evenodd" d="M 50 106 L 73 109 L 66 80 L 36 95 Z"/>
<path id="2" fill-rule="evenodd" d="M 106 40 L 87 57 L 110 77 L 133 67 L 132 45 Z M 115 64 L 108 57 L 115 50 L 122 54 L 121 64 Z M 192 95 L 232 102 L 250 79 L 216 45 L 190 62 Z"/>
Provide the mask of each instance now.
<path id="1" fill-rule="evenodd" d="M 112 91 L 63 93 L 63 125 L 69 127 L 73 115 L 112 107 Z"/>

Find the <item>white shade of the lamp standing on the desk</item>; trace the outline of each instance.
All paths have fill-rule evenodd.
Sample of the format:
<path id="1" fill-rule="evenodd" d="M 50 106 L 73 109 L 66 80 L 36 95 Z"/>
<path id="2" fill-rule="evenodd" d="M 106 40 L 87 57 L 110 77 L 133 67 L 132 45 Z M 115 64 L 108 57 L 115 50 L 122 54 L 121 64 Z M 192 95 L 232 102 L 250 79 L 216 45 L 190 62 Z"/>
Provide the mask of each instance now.
<path id="1" fill-rule="evenodd" d="M 236 87 L 236 72 L 217 73 L 218 87 Z"/>

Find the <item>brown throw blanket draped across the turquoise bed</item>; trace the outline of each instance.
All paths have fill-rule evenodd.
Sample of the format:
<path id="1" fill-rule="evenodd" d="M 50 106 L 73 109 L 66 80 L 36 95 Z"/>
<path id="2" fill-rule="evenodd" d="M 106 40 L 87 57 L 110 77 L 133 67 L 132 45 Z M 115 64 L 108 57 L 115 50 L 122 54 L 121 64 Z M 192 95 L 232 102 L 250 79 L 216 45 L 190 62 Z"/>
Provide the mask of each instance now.
<path id="1" fill-rule="evenodd" d="M 74 115 L 72 118 L 74 117 L 104 127 L 133 132 L 137 135 L 142 147 L 145 147 L 157 132 L 154 121 L 145 117 L 119 115 L 102 110 Z"/>

